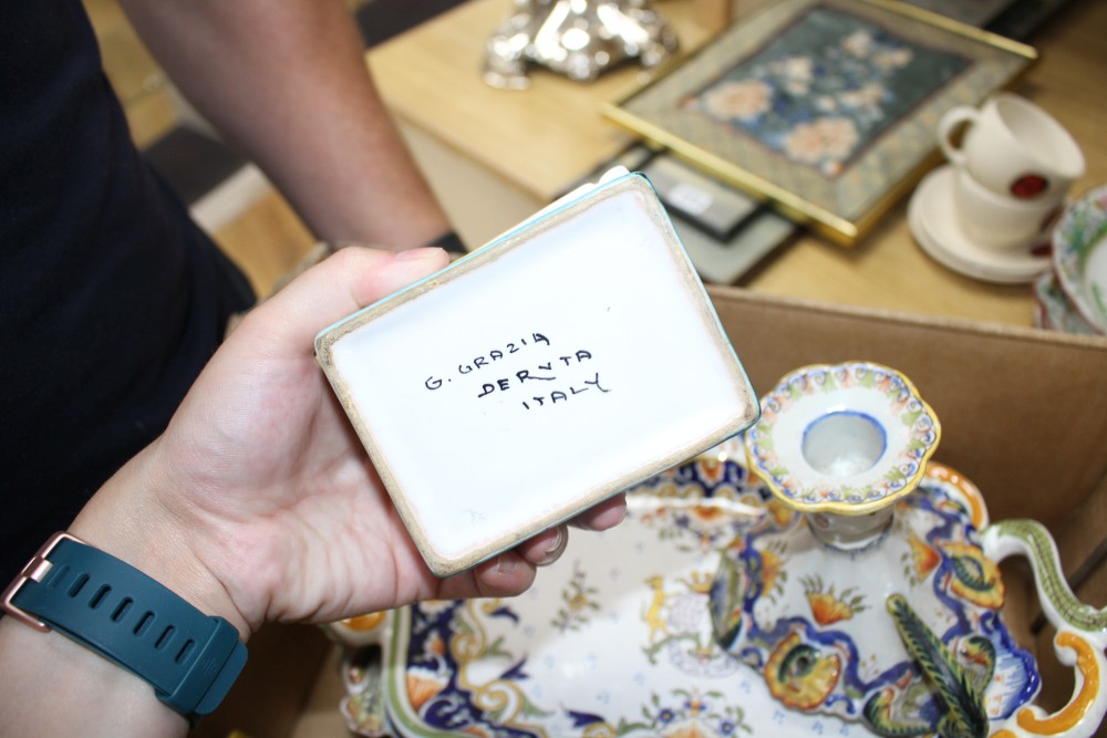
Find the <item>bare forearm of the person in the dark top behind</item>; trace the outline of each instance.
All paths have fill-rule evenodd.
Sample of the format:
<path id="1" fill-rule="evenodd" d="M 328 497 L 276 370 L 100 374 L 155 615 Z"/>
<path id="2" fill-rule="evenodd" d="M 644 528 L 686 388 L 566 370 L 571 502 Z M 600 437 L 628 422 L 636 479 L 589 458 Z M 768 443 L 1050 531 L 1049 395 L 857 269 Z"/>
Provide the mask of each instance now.
<path id="1" fill-rule="evenodd" d="M 449 230 L 341 2 L 121 4 L 177 87 L 319 238 L 400 249 Z"/>

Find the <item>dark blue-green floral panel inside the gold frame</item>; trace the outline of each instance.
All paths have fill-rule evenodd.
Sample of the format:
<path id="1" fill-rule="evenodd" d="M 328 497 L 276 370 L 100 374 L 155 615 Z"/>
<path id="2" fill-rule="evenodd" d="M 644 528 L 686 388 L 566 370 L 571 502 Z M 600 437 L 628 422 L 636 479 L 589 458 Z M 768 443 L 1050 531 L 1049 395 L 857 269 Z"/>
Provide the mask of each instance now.
<path id="1" fill-rule="evenodd" d="M 969 63 L 816 7 L 683 105 L 834 177 Z"/>

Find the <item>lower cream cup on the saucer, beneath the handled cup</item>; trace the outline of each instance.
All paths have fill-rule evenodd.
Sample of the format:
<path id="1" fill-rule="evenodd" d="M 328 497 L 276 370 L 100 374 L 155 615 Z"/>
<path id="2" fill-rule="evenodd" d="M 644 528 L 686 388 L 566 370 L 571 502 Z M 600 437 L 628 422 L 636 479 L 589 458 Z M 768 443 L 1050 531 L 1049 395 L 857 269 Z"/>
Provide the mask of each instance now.
<path id="1" fill-rule="evenodd" d="M 984 187 L 964 167 L 954 168 L 954 210 L 973 243 L 994 250 L 1022 249 L 1048 238 L 1064 209 L 1064 193 L 1047 199 L 1020 200 Z"/>

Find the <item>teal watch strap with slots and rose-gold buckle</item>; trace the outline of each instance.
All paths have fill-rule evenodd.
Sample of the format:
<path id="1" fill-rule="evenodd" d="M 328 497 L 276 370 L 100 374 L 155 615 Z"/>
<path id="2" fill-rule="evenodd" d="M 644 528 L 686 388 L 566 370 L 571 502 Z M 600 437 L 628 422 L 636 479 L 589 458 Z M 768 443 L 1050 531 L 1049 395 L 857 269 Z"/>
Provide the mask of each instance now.
<path id="1" fill-rule="evenodd" d="M 234 625 L 68 533 L 42 547 L 4 592 L 3 606 L 149 682 L 158 699 L 193 720 L 223 701 L 246 664 Z"/>

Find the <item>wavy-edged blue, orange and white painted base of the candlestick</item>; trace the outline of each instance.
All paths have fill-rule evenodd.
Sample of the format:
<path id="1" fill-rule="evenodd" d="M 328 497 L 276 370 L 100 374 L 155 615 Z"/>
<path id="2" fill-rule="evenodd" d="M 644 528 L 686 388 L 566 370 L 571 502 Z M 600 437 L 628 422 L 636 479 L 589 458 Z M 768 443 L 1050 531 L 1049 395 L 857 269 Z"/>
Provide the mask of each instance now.
<path id="1" fill-rule="evenodd" d="M 1003 584 L 976 543 L 969 509 L 958 488 L 927 477 L 899 501 L 878 543 L 850 553 L 819 542 L 803 517 L 785 526 L 764 518 L 716 578 L 720 638 L 790 708 L 867 720 L 883 735 L 935 731 L 948 710 L 886 612 L 891 582 L 927 612 L 965 668 L 975 664 L 971 640 L 989 644 L 996 656 L 986 710 L 993 719 L 1010 716 L 1039 679 L 1000 617 Z M 785 586 L 766 575 L 774 570 L 787 572 Z"/>

